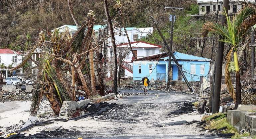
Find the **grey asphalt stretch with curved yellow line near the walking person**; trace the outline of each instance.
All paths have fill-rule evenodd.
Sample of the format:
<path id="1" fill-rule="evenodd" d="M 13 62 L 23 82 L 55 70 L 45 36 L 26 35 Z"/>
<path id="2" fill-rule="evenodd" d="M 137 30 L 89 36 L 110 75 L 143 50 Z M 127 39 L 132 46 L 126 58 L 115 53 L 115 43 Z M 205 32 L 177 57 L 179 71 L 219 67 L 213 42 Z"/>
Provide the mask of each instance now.
<path id="1" fill-rule="evenodd" d="M 119 93 L 144 93 L 143 90 L 118 90 Z M 121 104 L 147 104 L 147 103 L 174 103 L 182 102 L 187 99 L 191 99 L 191 95 L 182 95 L 178 93 L 167 93 L 163 91 L 148 91 L 147 95 L 133 95 L 123 97 L 117 102 Z"/>

